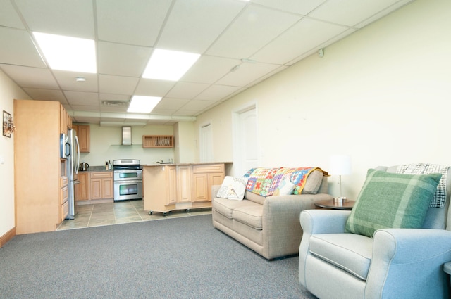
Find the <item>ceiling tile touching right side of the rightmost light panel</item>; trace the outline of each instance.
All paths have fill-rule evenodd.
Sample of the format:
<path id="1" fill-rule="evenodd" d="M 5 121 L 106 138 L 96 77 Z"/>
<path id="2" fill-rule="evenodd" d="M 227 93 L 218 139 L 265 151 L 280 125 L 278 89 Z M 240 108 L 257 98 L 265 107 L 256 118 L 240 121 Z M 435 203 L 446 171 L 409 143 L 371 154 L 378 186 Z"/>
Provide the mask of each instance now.
<path id="1" fill-rule="evenodd" d="M 186 82 L 213 84 L 240 63 L 240 59 L 201 56 L 182 79 Z"/>

